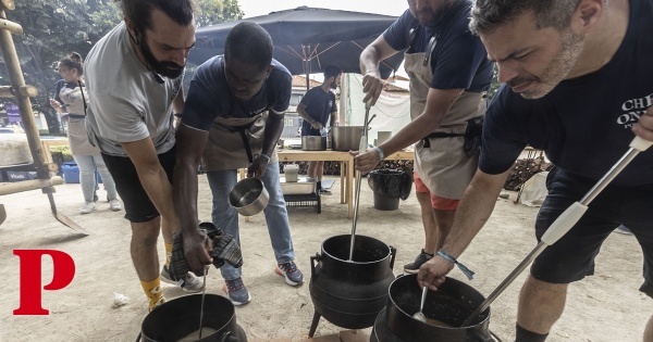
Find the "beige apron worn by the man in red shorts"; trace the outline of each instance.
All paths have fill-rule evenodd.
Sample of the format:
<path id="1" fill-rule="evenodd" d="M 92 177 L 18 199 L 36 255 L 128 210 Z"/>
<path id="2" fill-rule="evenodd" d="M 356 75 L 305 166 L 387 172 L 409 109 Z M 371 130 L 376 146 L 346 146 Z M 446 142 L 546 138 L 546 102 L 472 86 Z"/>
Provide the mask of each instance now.
<path id="1" fill-rule="evenodd" d="M 404 66 L 410 78 L 410 118 L 422 114 L 427 94 L 431 89 L 430 60 L 423 65 L 426 53 L 406 53 Z M 463 92 L 452 105 L 435 132 L 465 134 L 467 121 L 482 117 L 482 93 Z M 459 200 L 477 170 L 479 153 L 467 156 L 463 149 L 465 137 L 431 138 L 431 147 L 424 148 L 423 139 L 415 144 L 415 172 L 431 193 Z"/>

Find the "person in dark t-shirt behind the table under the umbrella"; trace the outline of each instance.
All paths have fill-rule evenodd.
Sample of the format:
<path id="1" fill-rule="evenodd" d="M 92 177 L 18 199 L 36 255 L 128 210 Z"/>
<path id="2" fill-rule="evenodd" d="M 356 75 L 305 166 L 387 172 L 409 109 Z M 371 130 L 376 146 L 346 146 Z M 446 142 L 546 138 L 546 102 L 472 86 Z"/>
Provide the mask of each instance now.
<path id="1" fill-rule="evenodd" d="M 335 94 L 331 91 L 340 85 L 343 71 L 335 65 L 328 65 L 324 68 L 324 80 L 319 87 L 308 90 L 299 105 L 297 113 L 304 122 L 301 124 L 301 136 L 323 136 L 326 123 L 331 123 L 331 130 L 337 123 L 337 105 L 335 104 Z M 324 162 L 308 162 L 308 177 L 316 179 L 317 189 L 322 193 L 329 193 L 322 188 L 322 175 L 324 174 Z"/>

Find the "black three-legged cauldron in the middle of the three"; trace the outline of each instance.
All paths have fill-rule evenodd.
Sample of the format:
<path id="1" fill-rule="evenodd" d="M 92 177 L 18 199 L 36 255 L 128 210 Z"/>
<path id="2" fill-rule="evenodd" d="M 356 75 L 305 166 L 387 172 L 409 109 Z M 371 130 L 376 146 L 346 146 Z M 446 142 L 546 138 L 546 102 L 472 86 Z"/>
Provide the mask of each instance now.
<path id="1" fill-rule="evenodd" d="M 310 257 L 309 291 L 315 307 L 310 338 L 320 316 L 342 328 L 362 329 L 374 325 L 387 303 L 396 249 L 356 236 L 348 261 L 350 239 L 350 235 L 329 238 L 322 243 L 322 253 Z"/>

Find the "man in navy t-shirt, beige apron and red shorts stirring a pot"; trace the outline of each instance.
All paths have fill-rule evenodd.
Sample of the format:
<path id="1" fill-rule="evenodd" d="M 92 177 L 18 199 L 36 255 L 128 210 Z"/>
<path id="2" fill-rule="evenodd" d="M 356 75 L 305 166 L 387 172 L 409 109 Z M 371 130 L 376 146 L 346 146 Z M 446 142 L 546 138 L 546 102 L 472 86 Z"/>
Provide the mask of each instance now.
<path id="1" fill-rule="evenodd" d="M 424 244 L 404 271 L 415 274 L 446 238 L 476 172 L 484 92 L 494 64 L 467 28 L 470 1 L 408 1 L 408 10 L 360 54 L 364 102 L 374 104 L 383 89 L 379 63 L 406 50 L 412 122 L 390 140 L 358 151 L 356 168 L 369 172 L 384 155 L 414 142 L 415 190 L 421 207 Z"/>

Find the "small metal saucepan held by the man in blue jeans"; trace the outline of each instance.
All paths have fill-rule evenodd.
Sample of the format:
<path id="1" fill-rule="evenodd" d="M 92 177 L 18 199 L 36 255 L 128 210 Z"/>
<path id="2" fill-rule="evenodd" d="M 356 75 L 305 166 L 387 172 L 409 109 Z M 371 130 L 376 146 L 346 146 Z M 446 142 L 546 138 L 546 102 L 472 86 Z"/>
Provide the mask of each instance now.
<path id="1" fill-rule="evenodd" d="M 242 179 L 229 192 L 229 203 L 244 216 L 262 212 L 269 199 L 263 181 L 255 177 Z"/>

